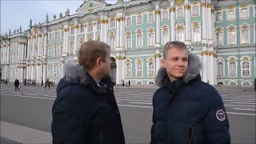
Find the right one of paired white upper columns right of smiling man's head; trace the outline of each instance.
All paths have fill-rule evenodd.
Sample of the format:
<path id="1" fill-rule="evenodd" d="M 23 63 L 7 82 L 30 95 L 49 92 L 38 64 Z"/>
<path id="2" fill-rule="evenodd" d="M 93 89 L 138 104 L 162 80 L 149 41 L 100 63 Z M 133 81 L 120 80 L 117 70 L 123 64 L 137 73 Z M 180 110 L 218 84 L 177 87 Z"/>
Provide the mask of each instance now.
<path id="1" fill-rule="evenodd" d="M 208 31 L 208 44 L 212 45 L 213 44 L 213 22 L 211 18 L 211 3 L 207 4 L 207 31 Z"/>

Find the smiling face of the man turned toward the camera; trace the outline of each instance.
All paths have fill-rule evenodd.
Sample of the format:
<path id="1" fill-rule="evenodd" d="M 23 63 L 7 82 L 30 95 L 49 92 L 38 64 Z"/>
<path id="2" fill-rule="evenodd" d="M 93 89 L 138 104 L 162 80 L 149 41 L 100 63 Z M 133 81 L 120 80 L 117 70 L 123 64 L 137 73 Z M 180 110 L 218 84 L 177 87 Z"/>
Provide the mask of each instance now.
<path id="1" fill-rule="evenodd" d="M 188 66 L 188 53 L 186 50 L 174 47 L 167 50 L 166 59 L 162 59 L 161 62 L 172 82 L 183 77 Z"/>

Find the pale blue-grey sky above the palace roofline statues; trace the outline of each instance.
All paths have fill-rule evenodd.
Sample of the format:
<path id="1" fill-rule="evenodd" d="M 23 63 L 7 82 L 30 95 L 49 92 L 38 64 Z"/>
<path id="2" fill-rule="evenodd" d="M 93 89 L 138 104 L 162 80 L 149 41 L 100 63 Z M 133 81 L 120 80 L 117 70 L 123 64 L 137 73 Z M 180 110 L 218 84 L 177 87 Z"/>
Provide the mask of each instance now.
<path id="1" fill-rule="evenodd" d="M 22 26 L 22 31 L 27 30 L 32 18 L 34 23 L 43 23 L 46 21 L 46 14 L 49 20 L 56 18 L 62 12 L 63 16 L 67 9 L 70 9 L 70 15 L 75 14 L 84 0 L 1 0 L 1 34 L 9 34 L 9 29 L 14 32 Z M 117 0 L 108 0 L 107 3 L 114 4 Z"/>

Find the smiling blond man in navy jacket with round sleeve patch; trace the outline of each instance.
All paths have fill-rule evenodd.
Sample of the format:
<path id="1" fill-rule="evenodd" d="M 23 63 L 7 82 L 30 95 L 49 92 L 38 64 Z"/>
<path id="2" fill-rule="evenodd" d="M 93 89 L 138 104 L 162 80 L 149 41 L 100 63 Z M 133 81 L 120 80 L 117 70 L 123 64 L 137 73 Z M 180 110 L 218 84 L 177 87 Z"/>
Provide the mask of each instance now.
<path id="1" fill-rule="evenodd" d="M 150 144 L 229 144 L 222 97 L 202 82 L 201 62 L 183 42 L 167 42 L 153 98 Z"/>

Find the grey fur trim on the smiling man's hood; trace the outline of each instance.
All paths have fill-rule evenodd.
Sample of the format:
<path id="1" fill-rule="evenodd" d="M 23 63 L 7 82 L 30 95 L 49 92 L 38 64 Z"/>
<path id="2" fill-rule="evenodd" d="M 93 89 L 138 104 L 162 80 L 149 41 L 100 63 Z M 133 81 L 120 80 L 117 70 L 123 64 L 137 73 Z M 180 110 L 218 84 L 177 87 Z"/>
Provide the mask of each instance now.
<path id="1" fill-rule="evenodd" d="M 183 82 L 190 82 L 191 80 L 193 80 L 194 78 L 196 78 L 199 74 L 200 74 L 200 70 L 202 68 L 202 62 L 201 60 L 198 58 L 197 55 L 193 54 L 193 53 L 189 53 L 188 56 L 188 68 L 186 70 L 186 73 L 184 74 L 182 80 Z M 164 82 L 164 78 L 166 78 L 166 69 L 161 67 L 158 70 L 158 74 L 155 78 L 155 84 L 157 86 L 162 86 L 163 82 Z"/>

